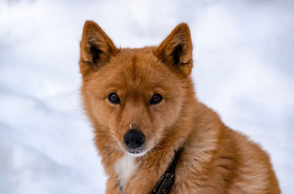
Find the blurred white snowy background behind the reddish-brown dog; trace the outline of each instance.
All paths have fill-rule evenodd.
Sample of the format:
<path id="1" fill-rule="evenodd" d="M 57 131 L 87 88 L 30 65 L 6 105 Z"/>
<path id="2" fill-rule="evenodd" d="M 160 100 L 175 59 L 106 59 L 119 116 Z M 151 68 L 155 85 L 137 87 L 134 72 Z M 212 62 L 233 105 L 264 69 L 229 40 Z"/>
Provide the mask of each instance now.
<path id="1" fill-rule="evenodd" d="M 79 41 L 96 21 L 116 46 L 193 39 L 198 98 L 271 155 L 293 193 L 294 1 L 0 0 L 0 193 L 103 193 L 80 106 Z"/>

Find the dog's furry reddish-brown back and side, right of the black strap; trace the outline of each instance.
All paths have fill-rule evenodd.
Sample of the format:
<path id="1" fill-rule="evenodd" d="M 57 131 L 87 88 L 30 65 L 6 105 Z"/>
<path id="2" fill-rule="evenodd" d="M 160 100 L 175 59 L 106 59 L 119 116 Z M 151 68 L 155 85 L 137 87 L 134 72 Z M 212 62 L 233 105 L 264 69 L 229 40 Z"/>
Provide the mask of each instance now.
<path id="1" fill-rule="evenodd" d="M 176 171 L 174 193 L 280 193 L 268 157 L 256 143 L 226 127 L 198 103 L 195 133 Z M 189 166 L 189 168 L 187 168 Z M 189 176 L 189 174 L 191 174 Z"/>

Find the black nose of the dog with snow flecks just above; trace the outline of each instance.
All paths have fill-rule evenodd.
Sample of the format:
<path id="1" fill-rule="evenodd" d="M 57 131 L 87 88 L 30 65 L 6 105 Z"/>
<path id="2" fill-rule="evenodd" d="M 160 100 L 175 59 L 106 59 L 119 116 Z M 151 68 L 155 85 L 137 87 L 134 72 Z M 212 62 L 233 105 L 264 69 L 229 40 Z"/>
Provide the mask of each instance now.
<path id="1" fill-rule="evenodd" d="M 129 148 L 138 148 L 144 143 L 145 136 L 136 130 L 131 130 L 123 137 L 125 144 Z"/>

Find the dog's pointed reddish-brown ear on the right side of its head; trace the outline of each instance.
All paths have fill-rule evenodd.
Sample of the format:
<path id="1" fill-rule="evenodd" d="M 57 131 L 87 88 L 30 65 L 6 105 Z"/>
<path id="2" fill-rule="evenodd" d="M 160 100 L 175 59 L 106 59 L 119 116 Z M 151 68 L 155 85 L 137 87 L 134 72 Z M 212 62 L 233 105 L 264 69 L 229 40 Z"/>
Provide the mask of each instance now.
<path id="1" fill-rule="evenodd" d="M 186 23 L 181 23 L 153 50 L 153 54 L 186 77 L 190 75 L 192 70 L 192 51 L 189 26 Z"/>

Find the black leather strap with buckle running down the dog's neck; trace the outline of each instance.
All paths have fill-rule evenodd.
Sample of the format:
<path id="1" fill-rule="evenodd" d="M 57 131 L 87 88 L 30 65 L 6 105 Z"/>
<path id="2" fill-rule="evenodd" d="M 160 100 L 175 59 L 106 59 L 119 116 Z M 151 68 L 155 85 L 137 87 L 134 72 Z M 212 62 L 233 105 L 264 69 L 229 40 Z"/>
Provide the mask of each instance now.
<path id="1" fill-rule="evenodd" d="M 173 182 L 175 180 L 175 168 L 176 168 L 178 159 L 181 155 L 181 152 L 182 152 L 182 149 L 178 149 L 175 151 L 173 161 L 168 166 L 165 173 L 161 176 L 161 178 L 157 182 L 154 189 L 150 192 L 150 194 L 169 193 L 169 191 L 171 190 L 171 187 L 173 186 Z"/>

